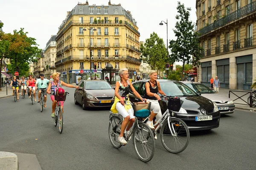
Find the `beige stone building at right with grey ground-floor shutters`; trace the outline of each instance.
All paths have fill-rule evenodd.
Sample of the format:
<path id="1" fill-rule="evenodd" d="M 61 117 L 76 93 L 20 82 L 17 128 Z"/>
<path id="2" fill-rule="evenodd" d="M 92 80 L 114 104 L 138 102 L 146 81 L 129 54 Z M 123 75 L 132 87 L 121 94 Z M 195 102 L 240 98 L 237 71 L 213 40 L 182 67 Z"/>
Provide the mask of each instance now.
<path id="1" fill-rule="evenodd" d="M 256 0 L 196 0 L 196 31 L 204 48 L 198 81 L 250 90 L 256 79 Z"/>

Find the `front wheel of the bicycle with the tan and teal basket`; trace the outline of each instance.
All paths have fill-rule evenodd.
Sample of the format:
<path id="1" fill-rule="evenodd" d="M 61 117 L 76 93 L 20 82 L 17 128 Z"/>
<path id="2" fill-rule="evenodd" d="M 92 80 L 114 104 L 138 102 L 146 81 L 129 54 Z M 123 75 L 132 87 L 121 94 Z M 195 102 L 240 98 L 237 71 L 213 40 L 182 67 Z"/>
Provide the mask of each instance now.
<path id="1" fill-rule="evenodd" d="M 139 127 L 134 126 L 133 143 L 140 160 L 148 162 L 153 158 L 155 151 L 154 134 L 145 123 L 139 123 Z"/>

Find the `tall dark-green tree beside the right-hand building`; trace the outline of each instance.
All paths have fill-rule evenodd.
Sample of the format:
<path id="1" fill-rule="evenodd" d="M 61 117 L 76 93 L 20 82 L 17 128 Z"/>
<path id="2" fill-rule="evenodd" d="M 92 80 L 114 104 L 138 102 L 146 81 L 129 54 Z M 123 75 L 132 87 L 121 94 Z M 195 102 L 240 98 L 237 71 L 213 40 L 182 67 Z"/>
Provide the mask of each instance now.
<path id="1" fill-rule="evenodd" d="M 178 2 L 176 15 L 175 33 L 176 40 L 170 40 L 169 48 L 171 49 L 171 58 L 175 61 L 182 61 L 184 70 L 185 63 L 192 63 L 194 66 L 199 66 L 201 51 L 203 48 L 199 43 L 199 33 L 194 32 L 194 24 L 189 20 L 191 8 L 186 8 L 184 4 Z"/>

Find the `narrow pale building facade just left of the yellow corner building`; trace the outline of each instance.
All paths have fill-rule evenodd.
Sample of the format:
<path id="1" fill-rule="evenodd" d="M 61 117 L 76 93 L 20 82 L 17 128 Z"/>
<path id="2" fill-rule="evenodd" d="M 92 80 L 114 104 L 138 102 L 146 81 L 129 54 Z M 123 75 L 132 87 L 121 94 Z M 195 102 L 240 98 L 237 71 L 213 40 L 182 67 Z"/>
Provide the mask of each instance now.
<path id="1" fill-rule="evenodd" d="M 57 35 L 52 35 L 44 49 L 44 76 L 47 79 L 50 79 L 52 73 L 56 72 L 56 37 Z"/>

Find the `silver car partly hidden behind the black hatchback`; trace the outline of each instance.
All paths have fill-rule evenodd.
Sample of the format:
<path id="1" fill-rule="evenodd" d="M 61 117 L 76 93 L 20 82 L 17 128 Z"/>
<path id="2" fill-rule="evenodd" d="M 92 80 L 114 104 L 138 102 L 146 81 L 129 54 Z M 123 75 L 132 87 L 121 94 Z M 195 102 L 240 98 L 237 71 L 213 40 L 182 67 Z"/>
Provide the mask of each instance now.
<path id="1" fill-rule="evenodd" d="M 192 90 L 196 93 L 200 93 L 205 98 L 208 98 L 211 101 L 214 101 L 218 109 L 220 110 L 220 114 L 230 114 L 233 113 L 235 110 L 234 102 L 223 95 L 216 94 L 215 91 L 209 89 L 204 84 L 198 82 L 191 82 L 191 81 L 181 81 L 182 83 L 189 86 Z"/>

